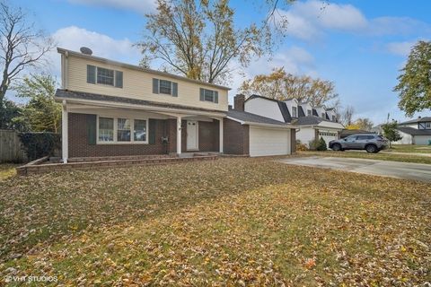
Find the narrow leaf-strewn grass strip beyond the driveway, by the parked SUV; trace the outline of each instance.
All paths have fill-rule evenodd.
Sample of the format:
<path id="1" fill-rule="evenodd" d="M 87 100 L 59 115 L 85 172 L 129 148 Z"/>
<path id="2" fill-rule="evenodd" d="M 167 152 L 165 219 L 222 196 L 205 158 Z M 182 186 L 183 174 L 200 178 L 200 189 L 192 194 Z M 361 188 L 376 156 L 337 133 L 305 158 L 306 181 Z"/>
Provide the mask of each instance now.
<path id="1" fill-rule="evenodd" d="M 303 151 L 297 152 L 299 156 L 326 156 L 326 157 L 338 157 L 338 158 L 356 158 L 356 159 L 366 159 L 366 160 L 379 160 L 379 161 L 401 161 L 401 162 L 413 162 L 413 163 L 427 163 L 431 164 L 431 157 L 418 156 L 415 154 L 395 154 L 389 152 L 378 152 L 378 153 L 368 153 L 368 152 L 334 152 L 334 151 Z"/>

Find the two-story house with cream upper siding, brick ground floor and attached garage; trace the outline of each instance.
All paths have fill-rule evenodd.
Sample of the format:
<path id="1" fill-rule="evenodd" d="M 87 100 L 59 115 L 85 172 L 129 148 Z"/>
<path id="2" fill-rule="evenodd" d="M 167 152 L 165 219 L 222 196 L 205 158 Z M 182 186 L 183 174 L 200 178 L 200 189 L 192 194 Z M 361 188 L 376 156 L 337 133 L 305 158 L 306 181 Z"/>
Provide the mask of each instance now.
<path id="1" fill-rule="evenodd" d="M 57 48 L 62 158 L 292 152 L 296 126 L 228 110 L 229 88 Z M 279 136 L 277 144 L 264 144 Z M 281 137 L 285 137 L 281 139 Z M 270 140 L 269 140 L 270 142 Z M 295 146 L 295 145 L 294 145 Z"/>

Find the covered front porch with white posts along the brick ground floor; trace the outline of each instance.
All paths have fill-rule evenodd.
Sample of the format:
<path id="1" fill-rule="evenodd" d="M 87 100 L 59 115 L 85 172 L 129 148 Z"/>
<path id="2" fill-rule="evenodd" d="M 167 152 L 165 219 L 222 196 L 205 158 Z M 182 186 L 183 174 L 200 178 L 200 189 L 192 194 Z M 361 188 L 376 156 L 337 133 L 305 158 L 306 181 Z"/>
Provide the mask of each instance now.
<path id="1" fill-rule="evenodd" d="M 223 153 L 223 117 L 219 111 L 63 100 L 62 161 Z"/>

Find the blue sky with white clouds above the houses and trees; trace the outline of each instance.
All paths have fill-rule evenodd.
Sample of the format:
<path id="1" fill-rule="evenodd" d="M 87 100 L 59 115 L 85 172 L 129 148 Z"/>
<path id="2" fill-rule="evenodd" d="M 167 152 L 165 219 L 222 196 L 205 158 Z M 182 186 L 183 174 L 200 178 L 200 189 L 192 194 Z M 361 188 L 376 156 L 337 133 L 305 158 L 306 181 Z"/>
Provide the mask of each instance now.
<path id="1" fill-rule="evenodd" d="M 35 14 L 40 27 L 58 46 L 92 48 L 93 55 L 137 65 L 144 13 L 154 11 L 153 0 L 13 0 Z M 231 2 L 236 21 L 246 25 L 262 16 L 253 5 Z M 392 92 L 409 48 L 418 39 L 431 39 L 429 0 L 297 1 L 280 10 L 288 21 L 288 36 L 271 60 L 253 61 L 233 74 L 230 101 L 244 78 L 266 74 L 284 66 L 292 74 L 318 76 L 336 84 L 343 106 L 356 109 L 356 117 L 383 122 L 388 113 L 404 120 L 398 96 Z M 59 76 L 60 57 L 50 55 L 51 72 Z M 155 67 L 155 66 L 154 66 Z M 240 71 L 238 71 L 240 72 Z M 425 111 L 415 115 L 428 115 Z"/>

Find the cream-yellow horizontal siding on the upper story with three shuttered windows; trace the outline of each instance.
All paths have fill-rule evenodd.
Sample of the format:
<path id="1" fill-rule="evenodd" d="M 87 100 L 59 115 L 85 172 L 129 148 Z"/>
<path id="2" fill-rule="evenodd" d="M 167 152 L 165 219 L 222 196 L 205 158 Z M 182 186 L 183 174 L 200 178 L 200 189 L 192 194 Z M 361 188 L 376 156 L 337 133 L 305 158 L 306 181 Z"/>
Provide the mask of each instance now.
<path id="1" fill-rule="evenodd" d="M 96 65 L 123 72 L 123 88 L 87 83 L 87 65 Z M 67 87 L 70 91 L 84 91 L 137 100 L 152 100 L 164 103 L 191 106 L 203 109 L 227 110 L 227 91 L 205 84 L 189 83 L 179 79 L 149 74 L 119 65 L 107 65 L 91 59 L 70 55 L 67 61 Z M 153 93 L 153 78 L 178 83 L 178 97 Z M 218 103 L 199 100 L 199 88 L 218 91 Z"/>

